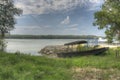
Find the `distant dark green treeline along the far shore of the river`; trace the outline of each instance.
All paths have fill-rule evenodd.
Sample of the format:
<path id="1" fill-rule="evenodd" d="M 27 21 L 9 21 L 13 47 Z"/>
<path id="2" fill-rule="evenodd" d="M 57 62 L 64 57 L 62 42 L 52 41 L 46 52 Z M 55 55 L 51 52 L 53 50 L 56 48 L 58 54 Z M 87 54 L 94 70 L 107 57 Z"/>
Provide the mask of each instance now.
<path id="1" fill-rule="evenodd" d="M 93 39 L 94 35 L 7 35 L 7 39 Z"/>

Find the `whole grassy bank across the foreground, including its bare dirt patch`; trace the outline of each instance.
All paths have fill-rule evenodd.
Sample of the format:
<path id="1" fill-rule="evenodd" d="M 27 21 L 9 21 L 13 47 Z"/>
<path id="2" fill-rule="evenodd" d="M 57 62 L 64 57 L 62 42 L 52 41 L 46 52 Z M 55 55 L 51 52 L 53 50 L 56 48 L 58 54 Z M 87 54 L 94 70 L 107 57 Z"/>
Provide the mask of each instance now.
<path id="1" fill-rule="evenodd" d="M 0 80 L 120 80 L 120 56 L 47 58 L 0 52 Z M 114 78 L 114 79 L 113 79 Z"/>

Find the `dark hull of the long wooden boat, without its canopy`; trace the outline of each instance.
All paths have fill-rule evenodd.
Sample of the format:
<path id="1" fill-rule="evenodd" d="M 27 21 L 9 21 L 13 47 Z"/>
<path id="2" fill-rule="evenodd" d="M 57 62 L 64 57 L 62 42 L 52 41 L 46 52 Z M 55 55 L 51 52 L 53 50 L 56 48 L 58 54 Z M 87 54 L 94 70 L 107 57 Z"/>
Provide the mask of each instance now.
<path id="1" fill-rule="evenodd" d="M 74 52 L 66 52 L 66 53 L 58 53 L 58 57 L 74 57 L 74 56 L 85 56 L 85 55 L 100 55 L 108 50 L 108 47 L 87 50 L 87 51 L 74 51 Z"/>

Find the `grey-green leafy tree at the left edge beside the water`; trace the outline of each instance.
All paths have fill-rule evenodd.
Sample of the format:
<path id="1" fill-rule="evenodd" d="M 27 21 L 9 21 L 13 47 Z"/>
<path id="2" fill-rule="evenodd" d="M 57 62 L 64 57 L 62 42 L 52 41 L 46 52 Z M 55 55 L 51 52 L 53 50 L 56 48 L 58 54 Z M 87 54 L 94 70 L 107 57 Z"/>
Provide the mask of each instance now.
<path id="1" fill-rule="evenodd" d="M 0 0 L 0 46 L 3 48 L 5 33 L 14 29 L 16 23 L 14 16 L 22 14 L 22 10 L 14 6 L 13 0 Z"/>

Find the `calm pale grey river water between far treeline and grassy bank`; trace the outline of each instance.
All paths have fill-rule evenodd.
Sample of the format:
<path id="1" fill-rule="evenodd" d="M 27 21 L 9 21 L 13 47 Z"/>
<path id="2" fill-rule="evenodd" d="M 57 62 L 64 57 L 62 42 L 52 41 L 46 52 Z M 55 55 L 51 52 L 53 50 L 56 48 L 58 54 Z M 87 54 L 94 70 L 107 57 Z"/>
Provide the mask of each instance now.
<path id="1" fill-rule="evenodd" d="M 7 52 L 21 52 L 39 55 L 39 51 L 48 45 L 64 45 L 65 43 L 81 39 L 6 39 Z M 90 40 L 87 40 L 90 41 Z"/>

